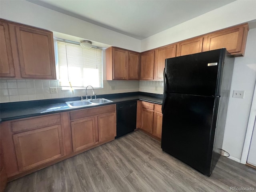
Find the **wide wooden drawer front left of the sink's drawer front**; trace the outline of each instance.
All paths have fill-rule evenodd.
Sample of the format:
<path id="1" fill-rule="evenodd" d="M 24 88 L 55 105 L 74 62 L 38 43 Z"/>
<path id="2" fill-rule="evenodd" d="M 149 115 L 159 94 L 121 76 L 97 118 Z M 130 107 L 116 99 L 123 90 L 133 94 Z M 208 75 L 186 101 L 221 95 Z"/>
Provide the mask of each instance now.
<path id="1" fill-rule="evenodd" d="M 19 132 L 56 124 L 60 124 L 60 114 L 13 121 L 11 122 L 11 127 L 13 132 Z"/>

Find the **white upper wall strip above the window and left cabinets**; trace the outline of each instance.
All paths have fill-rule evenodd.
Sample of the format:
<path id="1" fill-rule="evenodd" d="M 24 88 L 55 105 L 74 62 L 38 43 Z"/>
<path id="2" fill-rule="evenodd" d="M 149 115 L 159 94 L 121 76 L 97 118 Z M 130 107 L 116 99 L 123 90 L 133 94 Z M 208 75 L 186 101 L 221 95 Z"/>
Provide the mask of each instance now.
<path id="1" fill-rule="evenodd" d="M 140 52 L 140 40 L 24 0 L 1 0 L 0 18 Z"/>

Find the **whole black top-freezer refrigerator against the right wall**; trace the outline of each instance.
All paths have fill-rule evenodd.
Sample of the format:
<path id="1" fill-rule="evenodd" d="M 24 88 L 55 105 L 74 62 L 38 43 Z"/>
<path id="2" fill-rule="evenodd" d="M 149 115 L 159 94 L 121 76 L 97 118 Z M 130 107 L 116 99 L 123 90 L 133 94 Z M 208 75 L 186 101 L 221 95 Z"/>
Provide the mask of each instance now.
<path id="1" fill-rule="evenodd" d="M 226 48 L 166 59 L 162 150 L 208 176 L 222 149 L 233 68 Z"/>

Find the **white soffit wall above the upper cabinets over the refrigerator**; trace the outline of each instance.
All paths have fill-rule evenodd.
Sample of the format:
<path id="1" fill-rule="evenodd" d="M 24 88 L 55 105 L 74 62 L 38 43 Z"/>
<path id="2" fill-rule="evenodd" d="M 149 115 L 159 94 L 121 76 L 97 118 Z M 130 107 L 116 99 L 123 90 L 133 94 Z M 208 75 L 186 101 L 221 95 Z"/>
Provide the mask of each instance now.
<path id="1" fill-rule="evenodd" d="M 256 19 L 255 0 L 237 0 L 141 41 L 141 52 Z"/>

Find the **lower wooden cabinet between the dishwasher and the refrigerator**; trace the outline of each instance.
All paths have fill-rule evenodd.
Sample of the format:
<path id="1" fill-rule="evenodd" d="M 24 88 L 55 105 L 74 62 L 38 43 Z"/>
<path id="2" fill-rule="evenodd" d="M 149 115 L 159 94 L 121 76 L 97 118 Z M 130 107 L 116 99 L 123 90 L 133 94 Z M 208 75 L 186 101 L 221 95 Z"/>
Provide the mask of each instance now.
<path id="1" fill-rule="evenodd" d="M 137 104 L 137 128 L 161 139 L 162 137 L 162 105 L 145 101 Z"/>

